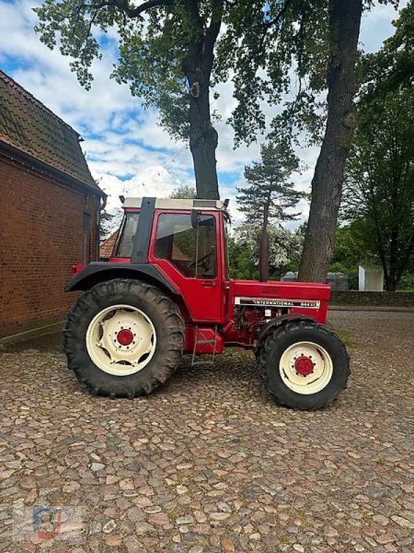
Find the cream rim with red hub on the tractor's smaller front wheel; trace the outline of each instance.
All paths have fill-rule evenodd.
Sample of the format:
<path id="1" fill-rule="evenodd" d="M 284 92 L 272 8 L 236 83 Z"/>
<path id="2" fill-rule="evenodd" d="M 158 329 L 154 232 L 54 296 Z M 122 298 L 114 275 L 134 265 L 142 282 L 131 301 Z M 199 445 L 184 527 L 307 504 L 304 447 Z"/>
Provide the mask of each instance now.
<path id="1" fill-rule="evenodd" d="M 311 395 L 331 382 L 333 362 L 322 346 L 311 341 L 300 341 L 284 350 L 279 361 L 279 373 L 290 390 Z"/>

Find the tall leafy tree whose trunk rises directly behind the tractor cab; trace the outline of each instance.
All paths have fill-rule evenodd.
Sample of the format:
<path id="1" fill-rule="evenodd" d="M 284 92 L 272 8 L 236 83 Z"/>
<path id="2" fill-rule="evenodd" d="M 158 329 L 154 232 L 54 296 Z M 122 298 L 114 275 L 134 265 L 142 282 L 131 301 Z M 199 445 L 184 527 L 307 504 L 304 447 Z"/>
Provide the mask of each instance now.
<path id="1" fill-rule="evenodd" d="M 224 6 L 224 0 L 46 0 L 34 8 L 41 41 L 74 58 L 70 66 L 86 88 L 100 56 L 99 32 L 117 28 L 112 76 L 156 106 L 175 138 L 189 141 L 201 198 L 219 198 L 210 85 Z"/>

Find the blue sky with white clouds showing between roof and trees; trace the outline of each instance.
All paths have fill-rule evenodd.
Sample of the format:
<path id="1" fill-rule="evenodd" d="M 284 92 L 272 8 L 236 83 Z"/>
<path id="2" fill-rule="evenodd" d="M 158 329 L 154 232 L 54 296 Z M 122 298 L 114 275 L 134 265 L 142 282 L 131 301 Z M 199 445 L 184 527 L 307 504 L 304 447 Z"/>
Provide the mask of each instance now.
<path id="1" fill-rule="evenodd" d="M 69 60 L 58 50 L 41 44 L 33 27 L 37 16 L 32 12 L 37 0 L 0 0 L 0 68 L 23 88 L 43 102 L 56 115 L 78 131 L 84 142 L 92 176 L 108 194 L 108 210 L 119 208 L 119 194 L 124 196 L 168 197 L 180 185 L 195 186 L 193 162 L 184 142 L 172 140 L 159 126 L 157 111 L 144 110 L 141 101 L 132 97 L 128 86 L 109 78 L 117 59 L 115 32 L 110 32 L 102 50 L 103 57 L 92 66 L 95 77 L 90 91 L 85 91 L 70 71 Z M 400 2 L 403 7 L 406 1 Z M 360 46 L 374 52 L 393 33 L 391 21 L 395 10 L 383 4 L 375 5 L 362 19 Z M 237 225 L 242 214 L 237 211 L 236 186 L 243 186 L 243 169 L 259 160 L 258 142 L 250 147 L 233 148 L 233 131 L 225 121 L 233 111 L 232 86 L 220 85 L 217 169 L 221 198 L 230 198 L 230 214 Z M 268 106 L 268 115 L 272 115 Z M 306 165 L 302 174 L 294 174 L 298 190 L 309 191 L 317 160 L 317 147 L 304 147 L 297 154 Z M 302 216 L 308 214 L 306 200 L 301 200 Z"/>

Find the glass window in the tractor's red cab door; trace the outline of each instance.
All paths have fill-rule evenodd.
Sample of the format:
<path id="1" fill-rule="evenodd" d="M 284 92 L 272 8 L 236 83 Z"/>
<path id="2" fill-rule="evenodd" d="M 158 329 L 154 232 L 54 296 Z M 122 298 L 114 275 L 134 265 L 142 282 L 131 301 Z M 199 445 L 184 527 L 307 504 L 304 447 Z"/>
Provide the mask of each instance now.
<path id="1" fill-rule="evenodd" d="M 170 261 L 184 277 L 213 279 L 216 276 L 215 218 L 201 215 L 195 228 L 190 214 L 161 214 L 154 255 Z"/>

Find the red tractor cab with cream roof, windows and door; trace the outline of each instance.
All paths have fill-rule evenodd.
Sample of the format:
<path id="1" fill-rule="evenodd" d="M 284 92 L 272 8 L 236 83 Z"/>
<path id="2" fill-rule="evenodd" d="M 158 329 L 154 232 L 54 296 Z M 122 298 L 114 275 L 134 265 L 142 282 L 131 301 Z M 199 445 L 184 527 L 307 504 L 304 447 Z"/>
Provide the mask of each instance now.
<path id="1" fill-rule="evenodd" d="M 124 218 L 108 261 L 150 263 L 180 291 L 193 321 L 223 321 L 229 221 L 224 202 L 157 198 L 152 217 L 146 213 L 152 205 L 145 199 L 143 203 L 141 198 L 127 198 L 123 207 Z"/>

